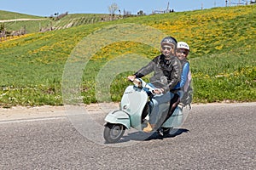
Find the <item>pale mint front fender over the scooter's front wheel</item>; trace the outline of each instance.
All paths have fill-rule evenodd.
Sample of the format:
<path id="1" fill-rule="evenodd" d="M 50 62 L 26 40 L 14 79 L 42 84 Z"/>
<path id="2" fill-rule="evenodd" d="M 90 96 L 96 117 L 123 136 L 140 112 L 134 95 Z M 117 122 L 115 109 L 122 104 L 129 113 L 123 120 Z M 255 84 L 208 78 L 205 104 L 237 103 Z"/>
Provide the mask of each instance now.
<path id="1" fill-rule="evenodd" d="M 125 111 L 112 111 L 105 117 L 106 122 L 122 124 L 127 129 L 131 127 L 130 116 Z"/>

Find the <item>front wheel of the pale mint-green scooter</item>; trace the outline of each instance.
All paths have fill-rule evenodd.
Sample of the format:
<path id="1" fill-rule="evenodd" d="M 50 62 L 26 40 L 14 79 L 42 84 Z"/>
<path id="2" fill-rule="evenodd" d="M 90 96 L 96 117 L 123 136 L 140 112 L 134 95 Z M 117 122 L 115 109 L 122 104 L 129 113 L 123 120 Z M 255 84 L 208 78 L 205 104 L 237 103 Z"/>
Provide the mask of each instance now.
<path id="1" fill-rule="evenodd" d="M 116 143 L 125 133 L 125 127 L 121 124 L 107 123 L 104 128 L 104 139 L 107 143 Z"/>

